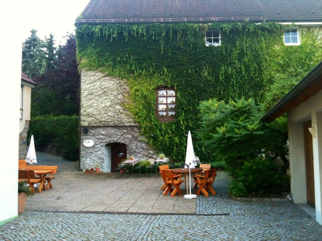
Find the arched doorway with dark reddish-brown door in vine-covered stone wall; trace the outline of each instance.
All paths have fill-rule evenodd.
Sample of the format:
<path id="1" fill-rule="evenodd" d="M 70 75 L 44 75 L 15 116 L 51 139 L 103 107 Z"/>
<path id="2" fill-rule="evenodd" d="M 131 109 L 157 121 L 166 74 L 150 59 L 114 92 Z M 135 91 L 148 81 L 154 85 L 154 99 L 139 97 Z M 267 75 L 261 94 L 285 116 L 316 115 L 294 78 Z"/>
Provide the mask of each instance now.
<path id="1" fill-rule="evenodd" d="M 104 172 L 114 172 L 121 160 L 126 158 L 126 144 L 117 142 L 105 145 Z"/>

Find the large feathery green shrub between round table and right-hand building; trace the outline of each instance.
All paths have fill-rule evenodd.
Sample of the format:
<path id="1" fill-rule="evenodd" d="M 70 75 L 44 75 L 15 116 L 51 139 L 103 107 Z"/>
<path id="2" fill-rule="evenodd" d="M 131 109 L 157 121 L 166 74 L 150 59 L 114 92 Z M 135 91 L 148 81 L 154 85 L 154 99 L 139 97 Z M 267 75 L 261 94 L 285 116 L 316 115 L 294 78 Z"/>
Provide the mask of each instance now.
<path id="1" fill-rule="evenodd" d="M 287 178 L 273 160 L 285 157 L 286 138 L 260 121 L 260 107 L 252 99 L 200 104 L 199 137 L 206 149 L 227 164 L 236 196 L 281 191 Z M 288 164 L 288 163 L 287 163 Z"/>

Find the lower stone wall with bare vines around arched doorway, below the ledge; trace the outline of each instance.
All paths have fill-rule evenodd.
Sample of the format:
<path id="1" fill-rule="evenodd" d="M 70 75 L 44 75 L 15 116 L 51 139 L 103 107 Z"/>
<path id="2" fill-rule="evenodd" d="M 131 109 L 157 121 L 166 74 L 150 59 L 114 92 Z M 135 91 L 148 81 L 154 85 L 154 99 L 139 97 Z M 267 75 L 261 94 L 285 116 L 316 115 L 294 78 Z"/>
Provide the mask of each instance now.
<path id="1" fill-rule="evenodd" d="M 94 141 L 94 146 L 85 147 L 83 145 L 84 140 L 88 139 Z M 142 160 L 156 159 L 155 151 L 140 136 L 137 126 L 88 127 L 87 134 L 81 134 L 81 169 L 85 170 L 93 167 L 95 163 L 99 163 L 101 171 L 103 171 L 105 145 L 116 142 L 127 145 L 128 156 Z"/>

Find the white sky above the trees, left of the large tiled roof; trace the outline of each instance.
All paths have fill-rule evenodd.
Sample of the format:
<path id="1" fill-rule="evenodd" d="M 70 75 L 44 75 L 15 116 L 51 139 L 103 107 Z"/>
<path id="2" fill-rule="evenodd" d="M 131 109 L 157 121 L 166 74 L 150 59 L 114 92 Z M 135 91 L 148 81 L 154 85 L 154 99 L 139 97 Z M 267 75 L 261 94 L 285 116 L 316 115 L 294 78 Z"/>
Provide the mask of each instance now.
<path id="1" fill-rule="evenodd" d="M 21 17 L 21 42 L 30 36 L 32 29 L 44 40 L 50 33 L 55 45 L 64 44 L 66 32 L 75 33 L 75 20 L 90 0 L 24 0 L 17 1 L 23 13 Z"/>

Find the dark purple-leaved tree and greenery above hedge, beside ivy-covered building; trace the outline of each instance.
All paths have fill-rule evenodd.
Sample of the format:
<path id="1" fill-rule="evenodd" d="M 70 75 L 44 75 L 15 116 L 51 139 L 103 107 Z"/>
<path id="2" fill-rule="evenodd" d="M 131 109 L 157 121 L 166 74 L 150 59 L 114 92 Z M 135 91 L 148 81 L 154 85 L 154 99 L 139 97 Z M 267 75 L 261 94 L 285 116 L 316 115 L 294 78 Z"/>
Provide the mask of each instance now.
<path id="1" fill-rule="evenodd" d="M 52 35 L 51 35 L 52 36 Z M 52 49 L 48 42 L 46 70 L 36 76 L 37 83 L 32 96 L 32 115 L 74 115 L 79 112 L 79 74 L 76 62 L 76 42 L 73 35 L 67 36 L 66 45 Z"/>

